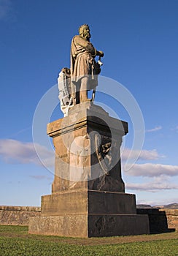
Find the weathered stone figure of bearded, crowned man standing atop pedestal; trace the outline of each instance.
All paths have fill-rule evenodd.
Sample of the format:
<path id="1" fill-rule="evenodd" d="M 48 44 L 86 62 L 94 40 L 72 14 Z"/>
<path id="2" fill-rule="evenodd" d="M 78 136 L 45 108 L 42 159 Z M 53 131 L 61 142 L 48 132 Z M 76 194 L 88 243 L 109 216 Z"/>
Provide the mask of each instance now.
<path id="1" fill-rule="evenodd" d="M 71 41 L 71 83 L 75 86 L 73 99 L 75 104 L 88 99 L 88 90 L 95 90 L 98 85 L 97 75 L 101 71 L 95 61 L 96 56 L 104 56 L 90 43 L 90 28 L 87 24 L 80 26 L 79 35 Z"/>

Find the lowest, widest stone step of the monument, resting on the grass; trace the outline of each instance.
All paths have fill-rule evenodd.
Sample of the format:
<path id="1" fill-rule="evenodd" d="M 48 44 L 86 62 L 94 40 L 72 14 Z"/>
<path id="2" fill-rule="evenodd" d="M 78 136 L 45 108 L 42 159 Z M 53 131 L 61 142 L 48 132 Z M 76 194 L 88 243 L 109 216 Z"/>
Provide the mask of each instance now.
<path id="1" fill-rule="evenodd" d="M 73 214 L 30 219 L 29 233 L 50 236 L 102 237 L 149 233 L 147 215 Z"/>

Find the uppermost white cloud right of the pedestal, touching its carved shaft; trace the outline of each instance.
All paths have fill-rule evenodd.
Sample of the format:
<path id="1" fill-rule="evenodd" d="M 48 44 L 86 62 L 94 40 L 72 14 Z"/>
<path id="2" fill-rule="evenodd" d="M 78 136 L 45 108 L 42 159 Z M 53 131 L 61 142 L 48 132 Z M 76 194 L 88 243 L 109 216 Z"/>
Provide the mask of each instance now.
<path id="1" fill-rule="evenodd" d="M 162 158 L 163 156 L 159 155 L 156 149 L 152 150 L 142 150 L 137 151 L 137 150 L 131 150 L 129 148 L 124 148 L 123 154 L 122 154 L 122 160 L 128 159 L 129 155 L 131 154 L 130 157 L 133 157 L 134 159 L 139 156 L 139 159 L 141 160 L 156 160 L 159 158 Z"/>

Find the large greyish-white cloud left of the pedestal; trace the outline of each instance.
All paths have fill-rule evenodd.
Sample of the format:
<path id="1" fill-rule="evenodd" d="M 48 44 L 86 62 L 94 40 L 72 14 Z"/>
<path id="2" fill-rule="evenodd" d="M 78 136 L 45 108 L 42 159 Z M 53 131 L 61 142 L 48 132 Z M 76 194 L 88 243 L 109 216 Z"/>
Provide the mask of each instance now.
<path id="1" fill-rule="evenodd" d="M 54 165 L 54 152 L 35 144 L 46 167 Z M 18 140 L 0 140 L 0 156 L 6 162 L 33 163 L 42 165 L 36 154 L 34 143 L 22 143 Z"/>

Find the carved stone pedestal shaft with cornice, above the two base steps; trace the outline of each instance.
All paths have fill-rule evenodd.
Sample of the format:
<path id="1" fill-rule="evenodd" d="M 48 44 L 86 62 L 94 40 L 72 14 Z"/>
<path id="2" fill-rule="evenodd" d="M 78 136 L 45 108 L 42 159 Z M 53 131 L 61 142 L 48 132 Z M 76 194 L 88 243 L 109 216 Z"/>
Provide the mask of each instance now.
<path id="1" fill-rule="evenodd" d="M 92 102 L 76 105 L 69 116 L 48 124 L 47 134 L 55 146 L 53 193 L 72 189 L 125 192 L 120 146 L 127 132 L 126 122 L 109 117 Z"/>

